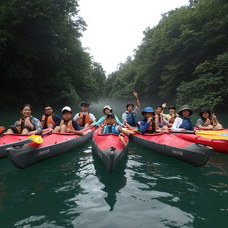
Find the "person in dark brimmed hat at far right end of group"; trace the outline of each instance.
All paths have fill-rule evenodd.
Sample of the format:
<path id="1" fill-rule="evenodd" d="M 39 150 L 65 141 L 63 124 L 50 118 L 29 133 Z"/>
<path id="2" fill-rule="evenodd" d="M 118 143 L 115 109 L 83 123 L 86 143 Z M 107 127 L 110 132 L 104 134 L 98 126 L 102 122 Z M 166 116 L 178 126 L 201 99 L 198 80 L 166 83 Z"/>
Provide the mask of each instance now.
<path id="1" fill-rule="evenodd" d="M 196 122 L 196 127 L 200 130 L 222 129 L 217 117 L 208 108 L 202 108 L 199 113 L 200 118 Z"/>

